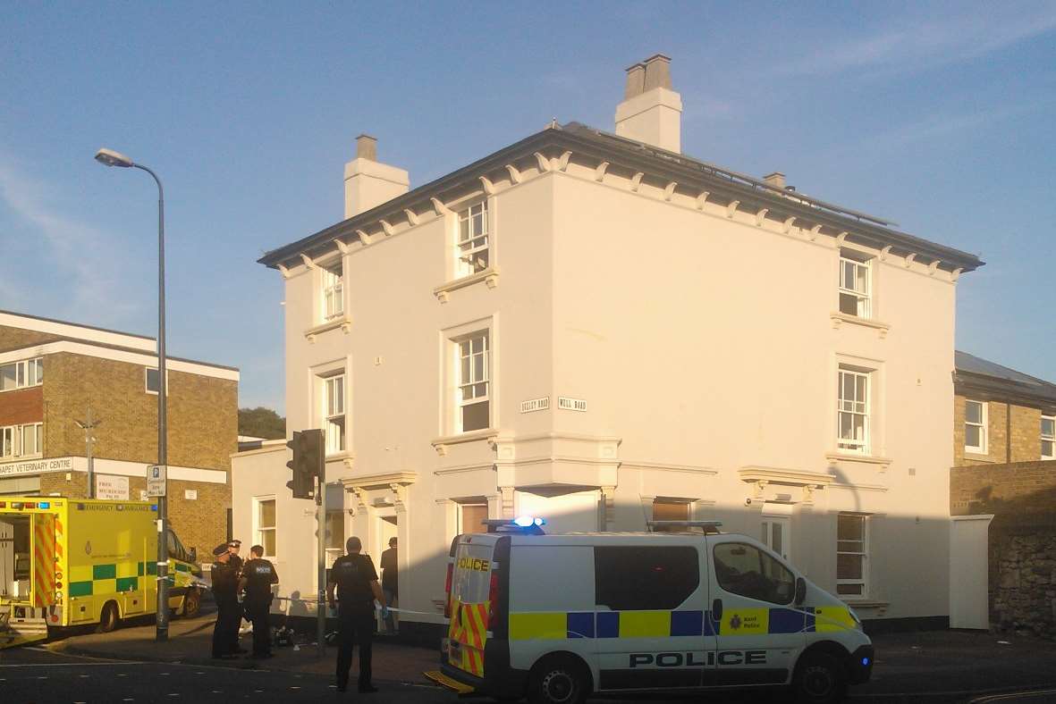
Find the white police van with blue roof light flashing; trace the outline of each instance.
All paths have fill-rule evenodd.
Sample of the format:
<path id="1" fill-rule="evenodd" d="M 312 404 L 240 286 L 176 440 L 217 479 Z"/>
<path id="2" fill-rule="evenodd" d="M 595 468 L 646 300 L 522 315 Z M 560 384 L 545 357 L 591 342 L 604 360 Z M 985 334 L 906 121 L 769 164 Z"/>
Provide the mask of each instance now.
<path id="1" fill-rule="evenodd" d="M 717 521 L 563 535 L 544 522 L 489 520 L 454 539 L 432 679 L 546 704 L 744 686 L 835 702 L 869 679 L 854 612 L 757 540 Z"/>

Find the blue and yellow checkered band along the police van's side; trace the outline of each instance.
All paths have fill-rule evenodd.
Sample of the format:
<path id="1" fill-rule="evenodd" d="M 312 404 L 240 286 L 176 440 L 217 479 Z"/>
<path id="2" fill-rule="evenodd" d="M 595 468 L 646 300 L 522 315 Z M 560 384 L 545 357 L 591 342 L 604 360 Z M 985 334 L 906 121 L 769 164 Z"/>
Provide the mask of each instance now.
<path id="1" fill-rule="evenodd" d="M 847 607 L 728 609 L 711 611 L 550 611 L 510 614 L 510 640 L 670 638 L 813 633 L 854 628 Z"/>

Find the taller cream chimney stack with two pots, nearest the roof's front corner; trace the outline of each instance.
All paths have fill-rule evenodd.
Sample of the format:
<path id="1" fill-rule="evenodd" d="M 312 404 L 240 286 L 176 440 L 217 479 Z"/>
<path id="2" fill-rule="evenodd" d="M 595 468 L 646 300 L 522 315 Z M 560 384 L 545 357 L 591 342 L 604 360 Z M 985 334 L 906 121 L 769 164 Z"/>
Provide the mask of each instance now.
<path id="1" fill-rule="evenodd" d="M 627 69 L 616 133 L 670 152 L 682 151 L 682 96 L 671 89 L 671 59 L 656 54 Z"/>

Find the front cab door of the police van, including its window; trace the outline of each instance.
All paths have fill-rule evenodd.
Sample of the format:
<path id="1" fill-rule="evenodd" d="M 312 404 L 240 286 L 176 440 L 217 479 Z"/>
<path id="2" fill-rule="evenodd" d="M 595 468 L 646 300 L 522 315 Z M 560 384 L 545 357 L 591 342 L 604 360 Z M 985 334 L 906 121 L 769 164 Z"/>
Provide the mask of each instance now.
<path id="1" fill-rule="evenodd" d="M 743 535 L 709 535 L 719 685 L 781 684 L 806 644 L 795 574 Z"/>

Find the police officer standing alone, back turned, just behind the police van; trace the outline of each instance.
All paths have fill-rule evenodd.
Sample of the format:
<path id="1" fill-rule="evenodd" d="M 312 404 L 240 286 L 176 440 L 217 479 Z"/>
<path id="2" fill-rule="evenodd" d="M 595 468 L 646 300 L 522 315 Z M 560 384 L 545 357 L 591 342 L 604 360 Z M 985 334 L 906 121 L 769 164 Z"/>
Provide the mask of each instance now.
<path id="1" fill-rule="evenodd" d="M 326 584 L 326 601 L 334 608 L 334 588 L 338 592 L 337 688 L 348 686 L 352 650 L 359 646 L 359 691 L 377 691 L 371 684 L 371 634 L 374 631 L 374 601 L 384 604 L 378 573 L 369 555 L 359 554 L 363 544 L 356 536 L 345 544 L 347 555 L 334 560 Z"/>

